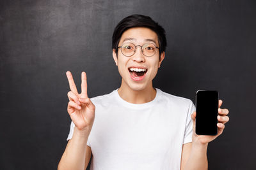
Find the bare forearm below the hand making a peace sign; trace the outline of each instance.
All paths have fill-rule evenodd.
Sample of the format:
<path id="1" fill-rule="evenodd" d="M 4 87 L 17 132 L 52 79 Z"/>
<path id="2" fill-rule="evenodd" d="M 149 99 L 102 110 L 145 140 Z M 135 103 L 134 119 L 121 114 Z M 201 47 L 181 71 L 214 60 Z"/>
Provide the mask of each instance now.
<path id="1" fill-rule="evenodd" d="M 58 170 L 84 169 L 86 145 L 89 134 L 90 129 L 79 131 L 76 127 L 74 128 L 74 134 L 61 157 Z"/>

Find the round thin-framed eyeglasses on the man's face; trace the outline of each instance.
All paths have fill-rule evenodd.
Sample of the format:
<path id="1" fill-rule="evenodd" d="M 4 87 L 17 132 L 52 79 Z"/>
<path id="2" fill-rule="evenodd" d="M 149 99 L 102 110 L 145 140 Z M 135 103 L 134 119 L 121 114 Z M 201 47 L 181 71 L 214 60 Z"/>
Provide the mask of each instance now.
<path id="1" fill-rule="evenodd" d="M 156 53 L 157 48 L 159 49 L 159 47 L 153 43 L 145 43 L 143 46 L 134 45 L 133 43 L 125 43 L 122 46 L 118 46 L 118 48 L 121 48 L 121 52 L 126 57 L 131 57 L 136 52 L 137 46 L 140 46 L 142 53 L 147 57 L 153 56 Z"/>

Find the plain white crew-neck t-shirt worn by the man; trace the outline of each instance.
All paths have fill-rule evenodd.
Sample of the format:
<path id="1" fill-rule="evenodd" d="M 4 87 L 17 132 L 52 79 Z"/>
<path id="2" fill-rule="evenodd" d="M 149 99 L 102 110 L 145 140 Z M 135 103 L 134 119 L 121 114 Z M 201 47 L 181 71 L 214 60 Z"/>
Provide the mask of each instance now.
<path id="1" fill-rule="evenodd" d="M 95 120 L 87 145 L 90 169 L 180 169 L 182 145 L 192 141 L 193 102 L 156 88 L 143 104 L 128 103 L 118 89 L 91 98 Z M 74 123 L 68 139 L 72 138 Z"/>

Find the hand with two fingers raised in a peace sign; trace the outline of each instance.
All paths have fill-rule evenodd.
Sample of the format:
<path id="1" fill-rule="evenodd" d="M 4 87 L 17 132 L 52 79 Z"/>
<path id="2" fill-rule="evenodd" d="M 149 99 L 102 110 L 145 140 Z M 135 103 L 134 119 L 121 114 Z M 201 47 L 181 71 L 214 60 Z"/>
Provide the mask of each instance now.
<path id="1" fill-rule="evenodd" d="M 76 84 L 70 71 L 67 71 L 70 90 L 68 92 L 68 114 L 77 129 L 92 128 L 95 117 L 95 106 L 87 96 L 86 73 L 82 72 L 81 94 L 78 94 Z"/>

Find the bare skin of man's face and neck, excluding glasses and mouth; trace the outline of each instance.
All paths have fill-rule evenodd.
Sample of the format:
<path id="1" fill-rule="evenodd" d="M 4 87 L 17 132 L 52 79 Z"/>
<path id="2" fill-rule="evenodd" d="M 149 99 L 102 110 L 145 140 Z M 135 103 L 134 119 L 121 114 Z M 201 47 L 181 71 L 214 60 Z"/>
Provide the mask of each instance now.
<path id="1" fill-rule="evenodd" d="M 126 38 L 134 38 L 134 40 L 124 41 Z M 120 38 L 118 46 L 122 46 L 123 43 L 127 42 L 142 46 L 144 43 L 150 42 L 145 39 L 152 39 L 156 42 L 155 45 L 159 46 L 156 32 L 145 27 L 135 27 L 125 31 Z M 120 76 L 122 76 L 122 83 L 118 89 L 119 96 L 129 103 L 140 104 L 152 101 L 156 96 L 156 90 L 152 86 L 152 80 L 156 76 L 161 62 L 163 62 L 164 52 L 159 59 L 158 51 L 155 55 L 147 57 L 143 55 L 140 48 L 137 48 L 134 55 L 126 57 L 119 48 L 118 57 L 116 57 L 115 49 L 113 49 L 113 59 L 118 67 Z M 131 66 L 147 67 L 146 76 L 142 81 L 138 82 L 131 79 L 128 71 L 128 67 Z"/>

